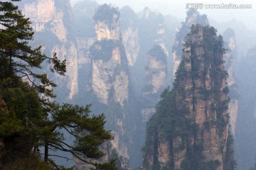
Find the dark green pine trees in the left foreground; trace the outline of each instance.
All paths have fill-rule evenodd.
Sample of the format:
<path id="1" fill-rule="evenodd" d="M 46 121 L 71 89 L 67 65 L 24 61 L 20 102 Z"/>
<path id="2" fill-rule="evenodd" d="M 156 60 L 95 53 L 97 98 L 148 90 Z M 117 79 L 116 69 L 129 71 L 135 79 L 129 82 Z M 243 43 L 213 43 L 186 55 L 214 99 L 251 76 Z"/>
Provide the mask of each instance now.
<path id="1" fill-rule="evenodd" d="M 51 72 L 65 75 L 65 60 L 60 62 L 56 54 L 46 57 L 41 47 L 28 45 L 31 22 L 15 1 L 20 0 L 0 2 L 0 169 L 65 169 L 48 158 L 60 157 L 49 150 L 70 152 L 92 169 L 116 169 L 114 160 L 97 162 L 105 156 L 99 147 L 112 139 L 104 129 L 105 116 L 91 116 L 90 105 L 54 102 L 56 84 L 40 74 L 41 65 L 47 62 Z M 64 132 L 74 145 L 65 142 Z"/>

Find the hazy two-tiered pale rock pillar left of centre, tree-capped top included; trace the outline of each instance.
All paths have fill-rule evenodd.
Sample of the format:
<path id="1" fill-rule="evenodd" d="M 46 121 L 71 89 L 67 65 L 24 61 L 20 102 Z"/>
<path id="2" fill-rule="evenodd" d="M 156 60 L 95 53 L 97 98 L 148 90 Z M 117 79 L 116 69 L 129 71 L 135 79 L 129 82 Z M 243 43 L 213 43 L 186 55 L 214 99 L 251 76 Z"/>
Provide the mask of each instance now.
<path id="1" fill-rule="evenodd" d="M 123 106 L 129 98 L 129 77 L 127 57 L 119 41 L 119 12 L 107 4 L 97 10 L 94 16 L 97 42 L 90 49 L 92 91 L 104 104 L 116 101 Z"/>

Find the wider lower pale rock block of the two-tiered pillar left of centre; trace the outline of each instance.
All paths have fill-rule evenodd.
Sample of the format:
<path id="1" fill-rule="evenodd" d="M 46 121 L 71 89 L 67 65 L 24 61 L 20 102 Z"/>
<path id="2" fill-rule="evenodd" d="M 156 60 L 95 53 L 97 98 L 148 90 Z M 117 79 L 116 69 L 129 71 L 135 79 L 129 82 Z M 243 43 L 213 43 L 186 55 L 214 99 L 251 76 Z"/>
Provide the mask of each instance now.
<path id="1" fill-rule="evenodd" d="M 113 41 L 104 41 L 105 45 L 113 45 L 111 48 L 103 45 L 103 42 L 95 43 L 92 50 L 95 55 L 92 57 L 92 91 L 96 94 L 100 102 L 108 104 L 114 100 L 121 106 L 129 98 L 129 77 L 125 68 L 127 62 L 123 62 L 125 57 L 122 47 L 114 45 Z M 97 58 L 97 55 L 109 53 L 104 58 Z M 108 58 L 108 59 L 107 59 Z M 107 59 L 107 60 L 106 60 Z M 110 95 L 112 97 L 110 97 Z"/>

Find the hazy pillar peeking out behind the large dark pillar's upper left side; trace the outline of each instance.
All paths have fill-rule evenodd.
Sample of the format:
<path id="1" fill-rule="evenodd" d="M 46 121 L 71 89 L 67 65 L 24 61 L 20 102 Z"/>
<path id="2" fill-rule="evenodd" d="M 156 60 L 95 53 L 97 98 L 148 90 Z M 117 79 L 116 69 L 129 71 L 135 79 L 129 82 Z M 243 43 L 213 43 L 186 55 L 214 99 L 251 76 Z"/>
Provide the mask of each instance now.
<path id="1" fill-rule="evenodd" d="M 172 70 L 173 76 L 178 69 L 178 65 L 181 62 L 181 51 L 183 48 L 183 39 L 186 34 L 189 32 L 191 26 L 194 24 L 201 24 L 202 26 L 207 26 L 209 24 L 208 18 L 206 15 L 200 15 L 196 10 L 190 10 L 187 12 L 186 21 L 182 23 L 181 28 L 178 29 L 176 33 L 176 39 L 174 41 L 174 46 L 172 49 L 172 57 L 174 60 L 174 67 Z"/>

